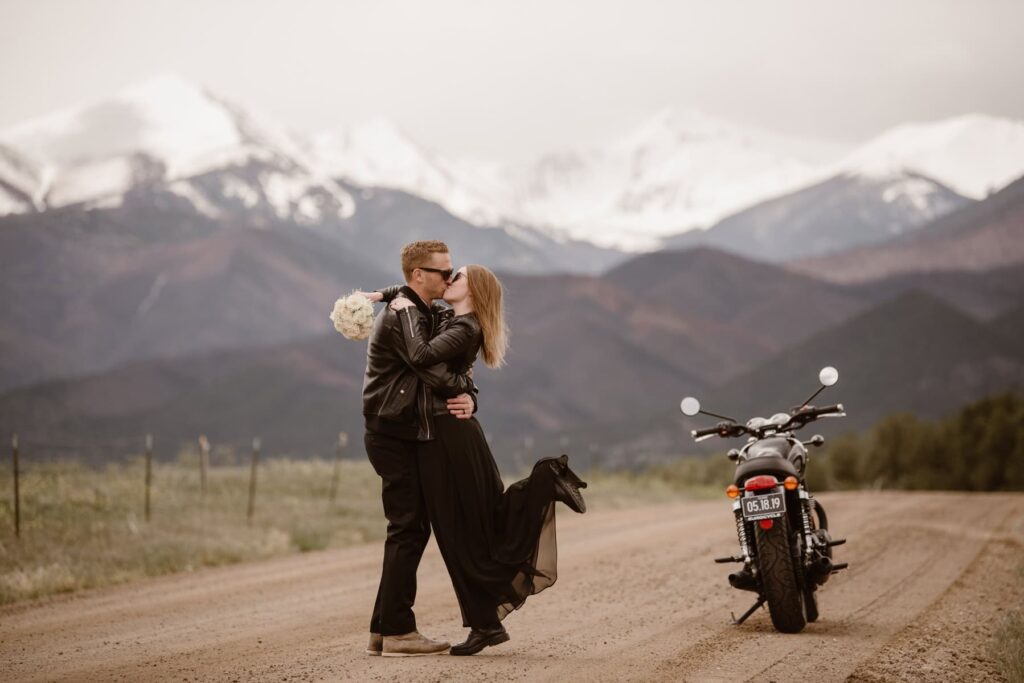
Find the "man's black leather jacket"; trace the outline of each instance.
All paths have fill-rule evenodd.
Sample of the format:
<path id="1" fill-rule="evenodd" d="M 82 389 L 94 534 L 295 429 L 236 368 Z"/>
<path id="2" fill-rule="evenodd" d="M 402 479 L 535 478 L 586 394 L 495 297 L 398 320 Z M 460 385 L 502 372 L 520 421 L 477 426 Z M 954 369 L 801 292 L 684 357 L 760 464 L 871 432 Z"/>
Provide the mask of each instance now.
<path id="1" fill-rule="evenodd" d="M 431 328 L 437 325 L 440 313 L 428 308 L 408 287 L 385 291 L 385 300 L 399 291 L 416 303 Z M 367 428 L 399 438 L 433 439 L 432 393 L 444 398 L 473 394 L 473 381 L 466 375 L 453 373 L 445 364 L 414 368 L 406 350 L 398 314 L 385 306 L 377 314 L 367 347 L 367 374 L 362 382 Z"/>

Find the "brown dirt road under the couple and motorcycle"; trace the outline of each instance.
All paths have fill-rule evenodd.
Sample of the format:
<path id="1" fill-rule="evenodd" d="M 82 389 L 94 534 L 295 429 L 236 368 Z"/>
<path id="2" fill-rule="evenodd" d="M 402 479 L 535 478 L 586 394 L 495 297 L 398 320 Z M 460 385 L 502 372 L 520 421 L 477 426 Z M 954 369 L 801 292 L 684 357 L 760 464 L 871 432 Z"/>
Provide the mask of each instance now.
<path id="1" fill-rule="evenodd" d="M 781 681 L 999 680 L 989 643 L 1024 607 L 1024 496 L 825 494 L 850 569 L 821 618 L 775 633 L 713 557 L 727 499 L 558 511 L 559 579 L 473 657 L 362 654 L 380 546 L 197 571 L 0 610 L 0 679 Z M 431 544 L 420 630 L 465 631 Z"/>

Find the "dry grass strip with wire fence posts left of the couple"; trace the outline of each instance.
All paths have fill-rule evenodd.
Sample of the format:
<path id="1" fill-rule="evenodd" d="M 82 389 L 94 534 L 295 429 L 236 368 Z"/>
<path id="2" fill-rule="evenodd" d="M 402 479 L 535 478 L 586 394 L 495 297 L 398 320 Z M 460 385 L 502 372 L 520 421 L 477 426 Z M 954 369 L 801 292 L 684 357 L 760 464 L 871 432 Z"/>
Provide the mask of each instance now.
<path id="1" fill-rule="evenodd" d="M 83 446 L 8 432 L 0 605 L 379 541 L 380 478 L 361 450 L 349 453 L 347 434 L 333 440 L 333 454 L 300 459 L 260 438 L 172 445 L 140 434 Z"/>

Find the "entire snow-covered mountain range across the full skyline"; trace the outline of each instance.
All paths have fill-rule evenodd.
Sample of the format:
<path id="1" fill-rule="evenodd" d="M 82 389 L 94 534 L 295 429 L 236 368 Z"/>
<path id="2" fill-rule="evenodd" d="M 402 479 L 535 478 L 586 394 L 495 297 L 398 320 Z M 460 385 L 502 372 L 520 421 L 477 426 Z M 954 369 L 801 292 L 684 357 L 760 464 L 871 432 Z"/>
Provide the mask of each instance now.
<path id="1" fill-rule="evenodd" d="M 164 76 L 0 131 L 0 215 L 118 206 L 159 185 L 210 218 L 326 224 L 351 216 L 354 185 L 409 193 L 524 243 L 643 251 L 834 177 L 894 203 L 906 224 L 876 227 L 898 232 L 951 206 L 930 181 L 977 199 L 1024 174 L 1024 122 L 982 115 L 898 126 L 849 154 L 825 146 L 666 110 L 608 144 L 508 166 L 446 157 L 382 120 L 302 136 Z"/>

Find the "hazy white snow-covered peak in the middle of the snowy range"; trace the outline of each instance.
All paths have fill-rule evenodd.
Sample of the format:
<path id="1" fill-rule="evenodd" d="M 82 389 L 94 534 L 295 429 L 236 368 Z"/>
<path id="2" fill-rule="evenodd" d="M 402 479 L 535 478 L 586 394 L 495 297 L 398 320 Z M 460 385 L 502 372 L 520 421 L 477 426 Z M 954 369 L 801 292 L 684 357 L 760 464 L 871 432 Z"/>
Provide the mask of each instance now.
<path id="1" fill-rule="evenodd" d="M 810 182 L 778 140 L 697 112 L 667 110 L 612 144 L 548 156 L 516 188 L 520 211 L 577 239 L 628 250 L 708 226 Z"/>

